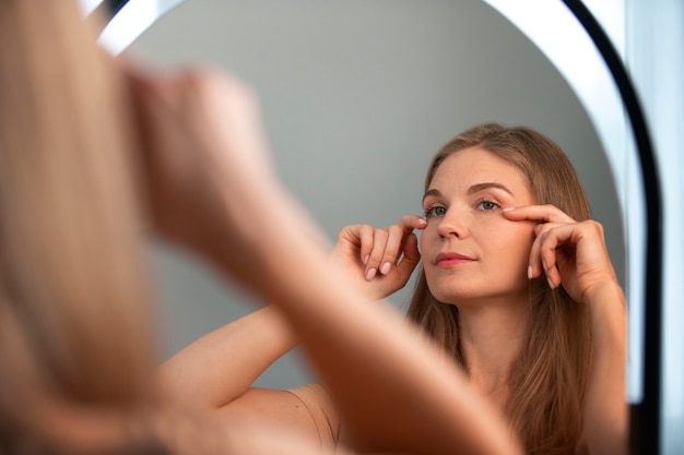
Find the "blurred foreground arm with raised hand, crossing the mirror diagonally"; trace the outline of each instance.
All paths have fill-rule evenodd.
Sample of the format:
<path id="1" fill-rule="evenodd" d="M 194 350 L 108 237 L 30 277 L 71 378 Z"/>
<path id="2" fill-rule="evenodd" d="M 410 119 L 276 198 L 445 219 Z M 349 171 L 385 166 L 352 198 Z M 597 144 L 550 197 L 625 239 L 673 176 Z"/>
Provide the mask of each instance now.
<path id="1" fill-rule="evenodd" d="M 211 72 L 144 86 L 157 230 L 283 312 L 356 447 L 522 453 L 498 411 L 416 327 L 331 268 L 316 225 L 272 173 L 249 91 Z"/>

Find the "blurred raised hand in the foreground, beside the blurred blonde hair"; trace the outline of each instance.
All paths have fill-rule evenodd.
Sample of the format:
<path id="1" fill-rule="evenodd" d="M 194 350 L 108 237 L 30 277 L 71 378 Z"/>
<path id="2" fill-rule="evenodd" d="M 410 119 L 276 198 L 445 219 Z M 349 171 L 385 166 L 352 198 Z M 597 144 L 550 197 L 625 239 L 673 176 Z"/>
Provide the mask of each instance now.
<path id="1" fill-rule="evenodd" d="M 244 180 L 257 188 L 275 181 L 256 97 L 239 81 L 210 69 L 125 70 L 154 227 L 169 240 L 197 247 L 213 224 L 217 196 L 233 193 L 239 202 L 248 193 Z"/>

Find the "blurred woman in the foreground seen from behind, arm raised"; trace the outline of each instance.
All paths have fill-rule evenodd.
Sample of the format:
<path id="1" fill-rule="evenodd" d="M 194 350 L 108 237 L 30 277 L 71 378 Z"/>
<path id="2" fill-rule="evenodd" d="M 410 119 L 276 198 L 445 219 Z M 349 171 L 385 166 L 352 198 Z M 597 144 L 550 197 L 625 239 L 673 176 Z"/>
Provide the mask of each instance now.
<path id="1" fill-rule="evenodd" d="M 0 452 L 321 453 L 157 387 L 155 235 L 272 301 L 369 450 L 520 453 L 428 342 L 326 270 L 248 88 L 114 62 L 90 25 L 75 1 L 0 2 Z"/>

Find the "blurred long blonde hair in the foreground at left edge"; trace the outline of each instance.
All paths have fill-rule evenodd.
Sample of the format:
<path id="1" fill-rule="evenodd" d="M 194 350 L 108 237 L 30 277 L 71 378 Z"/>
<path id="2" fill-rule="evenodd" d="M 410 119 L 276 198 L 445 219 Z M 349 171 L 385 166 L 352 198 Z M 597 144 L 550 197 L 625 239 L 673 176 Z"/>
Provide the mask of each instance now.
<path id="1" fill-rule="evenodd" d="M 125 85 L 75 1 L 0 2 L 0 452 L 153 397 Z M 57 450 L 52 450 L 57 453 Z"/>

